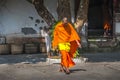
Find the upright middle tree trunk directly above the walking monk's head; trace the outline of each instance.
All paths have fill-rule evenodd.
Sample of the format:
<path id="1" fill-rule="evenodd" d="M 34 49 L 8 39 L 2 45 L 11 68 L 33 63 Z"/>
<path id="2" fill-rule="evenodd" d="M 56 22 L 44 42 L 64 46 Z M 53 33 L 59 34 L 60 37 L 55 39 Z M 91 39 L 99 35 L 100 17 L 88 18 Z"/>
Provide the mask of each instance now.
<path id="1" fill-rule="evenodd" d="M 67 17 L 71 21 L 70 0 L 58 0 L 57 4 L 58 20 Z"/>

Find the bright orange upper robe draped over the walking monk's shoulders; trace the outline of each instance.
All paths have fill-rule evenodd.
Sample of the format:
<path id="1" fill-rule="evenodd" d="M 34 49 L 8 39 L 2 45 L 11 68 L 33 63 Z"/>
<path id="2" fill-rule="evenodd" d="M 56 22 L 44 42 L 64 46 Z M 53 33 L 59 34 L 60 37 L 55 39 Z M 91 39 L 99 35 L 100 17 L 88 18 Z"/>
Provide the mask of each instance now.
<path id="1" fill-rule="evenodd" d="M 80 38 L 70 23 L 68 23 L 67 26 L 64 26 L 62 22 L 56 25 L 53 33 L 53 41 L 52 41 L 53 48 L 58 46 L 59 43 L 72 42 L 75 40 L 80 41 Z M 76 44 L 77 43 L 75 43 L 75 45 Z M 75 45 L 73 44 L 71 46 L 75 46 Z"/>

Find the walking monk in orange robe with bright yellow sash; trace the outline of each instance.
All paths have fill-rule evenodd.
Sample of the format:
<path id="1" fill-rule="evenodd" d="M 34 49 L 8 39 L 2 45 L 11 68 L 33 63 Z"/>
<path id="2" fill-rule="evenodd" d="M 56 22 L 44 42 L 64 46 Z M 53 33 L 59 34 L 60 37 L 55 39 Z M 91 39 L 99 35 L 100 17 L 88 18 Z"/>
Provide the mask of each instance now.
<path id="1" fill-rule="evenodd" d="M 64 17 L 63 20 L 56 25 L 52 41 L 52 48 L 58 48 L 61 54 L 60 72 L 70 74 L 69 68 L 75 65 L 72 58 L 78 47 L 81 47 L 80 38 L 67 18 Z"/>

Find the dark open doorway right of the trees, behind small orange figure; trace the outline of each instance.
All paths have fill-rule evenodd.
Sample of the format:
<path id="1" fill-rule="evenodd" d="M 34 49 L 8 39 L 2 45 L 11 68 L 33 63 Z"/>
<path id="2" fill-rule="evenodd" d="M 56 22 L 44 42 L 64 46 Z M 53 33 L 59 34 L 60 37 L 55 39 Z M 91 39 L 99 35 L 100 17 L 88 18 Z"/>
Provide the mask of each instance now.
<path id="1" fill-rule="evenodd" d="M 113 33 L 113 0 L 90 0 L 88 8 L 88 36 L 103 36 L 107 21 Z"/>

